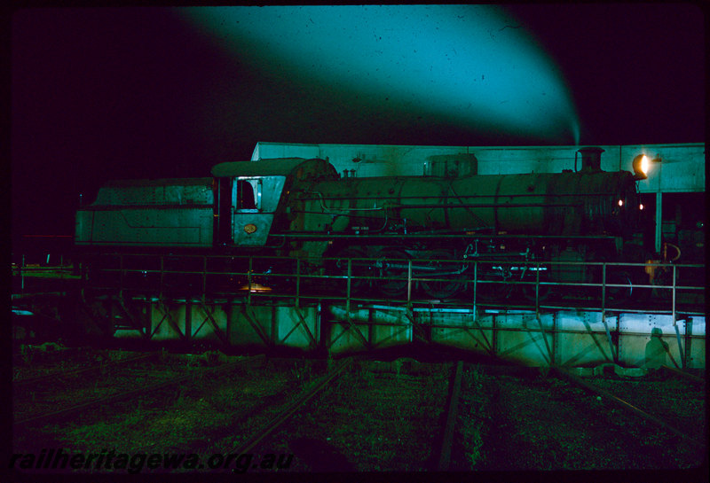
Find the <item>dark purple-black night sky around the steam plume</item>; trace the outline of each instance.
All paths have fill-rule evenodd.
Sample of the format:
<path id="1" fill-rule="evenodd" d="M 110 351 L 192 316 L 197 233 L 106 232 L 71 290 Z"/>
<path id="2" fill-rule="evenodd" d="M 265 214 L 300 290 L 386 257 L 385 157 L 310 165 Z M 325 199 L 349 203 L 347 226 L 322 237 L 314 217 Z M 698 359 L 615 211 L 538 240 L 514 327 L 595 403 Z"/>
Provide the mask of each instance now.
<path id="1" fill-rule="evenodd" d="M 506 8 L 569 86 L 580 144 L 704 141 L 695 6 Z M 170 9 L 17 11 L 11 69 L 13 235 L 73 234 L 80 192 L 91 201 L 113 178 L 209 175 L 217 162 L 248 160 L 258 141 L 574 144 L 478 131 L 267 74 Z"/>

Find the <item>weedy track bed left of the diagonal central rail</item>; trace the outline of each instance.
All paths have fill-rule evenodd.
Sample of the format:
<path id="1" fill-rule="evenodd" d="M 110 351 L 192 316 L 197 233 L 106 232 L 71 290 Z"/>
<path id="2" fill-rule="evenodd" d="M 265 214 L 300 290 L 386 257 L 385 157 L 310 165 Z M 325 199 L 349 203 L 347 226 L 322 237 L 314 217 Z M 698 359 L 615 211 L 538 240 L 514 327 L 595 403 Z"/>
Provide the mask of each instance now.
<path id="1" fill-rule="evenodd" d="M 232 432 L 248 434 L 253 425 L 295 398 L 312 376 L 317 377 L 315 365 L 309 360 L 257 355 L 193 370 L 153 386 L 16 419 L 13 448 L 39 454 L 48 446 L 69 447 L 88 454 L 100 446 L 130 455 L 156 450 L 179 455 L 183 450 L 193 454 L 219 440 L 231 446 Z"/>

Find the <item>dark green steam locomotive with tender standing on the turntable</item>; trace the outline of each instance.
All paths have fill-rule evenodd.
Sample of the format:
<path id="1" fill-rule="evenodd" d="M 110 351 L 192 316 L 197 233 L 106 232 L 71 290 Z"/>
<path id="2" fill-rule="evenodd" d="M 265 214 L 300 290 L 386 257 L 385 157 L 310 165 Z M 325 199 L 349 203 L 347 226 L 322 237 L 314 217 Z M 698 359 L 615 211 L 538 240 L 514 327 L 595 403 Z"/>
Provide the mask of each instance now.
<path id="1" fill-rule="evenodd" d="M 378 277 L 388 296 L 406 289 L 407 269 L 439 278 L 422 282 L 431 296 L 452 296 L 476 260 L 507 262 L 488 268 L 501 279 L 583 282 L 581 266 L 540 274 L 521 262 L 621 261 L 638 177 L 602 171 L 603 151 L 580 149 L 580 170 L 575 160 L 559 174 L 476 175 L 444 163 L 435 175 L 341 178 L 327 160 L 291 158 L 225 162 L 205 178 L 115 181 L 77 212 L 75 244 L 304 257 L 313 272 Z"/>

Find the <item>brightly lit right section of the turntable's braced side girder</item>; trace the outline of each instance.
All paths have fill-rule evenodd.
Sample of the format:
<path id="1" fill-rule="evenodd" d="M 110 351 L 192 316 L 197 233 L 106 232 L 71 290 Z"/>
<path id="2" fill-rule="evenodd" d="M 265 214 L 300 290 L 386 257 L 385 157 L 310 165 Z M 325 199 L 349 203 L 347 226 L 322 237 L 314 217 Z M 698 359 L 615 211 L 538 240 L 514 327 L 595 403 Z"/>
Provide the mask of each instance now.
<path id="1" fill-rule="evenodd" d="M 406 316 L 404 308 L 358 308 L 351 310 L 349 322 L 343 307 L 332 307 L 329 314 L 323 337 L 334 354 L 407 344 L 418 331 L 430 333 L 432 343 L 530 366 L 617 362 L 655 369 L 681 367 L 683 359 L 686 368 L 706 364 L 704 316 L 674 325 L 672 316 L 619 313 L 603 321 L 601 312 L 581 310 L 541 314 L 540 319 L 532 312 L 474 315 L 469 309 L 414 309 Z"/>

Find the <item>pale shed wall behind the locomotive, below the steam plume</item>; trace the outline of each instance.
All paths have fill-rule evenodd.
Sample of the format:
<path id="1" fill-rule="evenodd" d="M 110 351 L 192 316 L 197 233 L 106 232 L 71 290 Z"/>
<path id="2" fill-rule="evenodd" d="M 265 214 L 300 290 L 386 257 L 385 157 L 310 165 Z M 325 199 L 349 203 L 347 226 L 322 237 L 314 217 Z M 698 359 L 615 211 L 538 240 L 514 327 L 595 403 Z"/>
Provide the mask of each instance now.
<path id="1" fill-rule="evenodd" d="M 705 191 L 705 144 L 604 145 L 604 171 L 632 171 L 638 154 L 660 158 L 640 192 Z M 430 156 L 470 154 L 478 160 L 479 175 L 559 173 L 574 169 L 579 146 L 406 146 L 377 144 L 257 143 L 252 160 L 267 158 L 328 159 L 339 173 L 355 169 L 357 176 L 422 175 Z M 355 162 L 354 160 L 358 160 Z M 580 162 L 578 160 L 578 168 Z"/>

